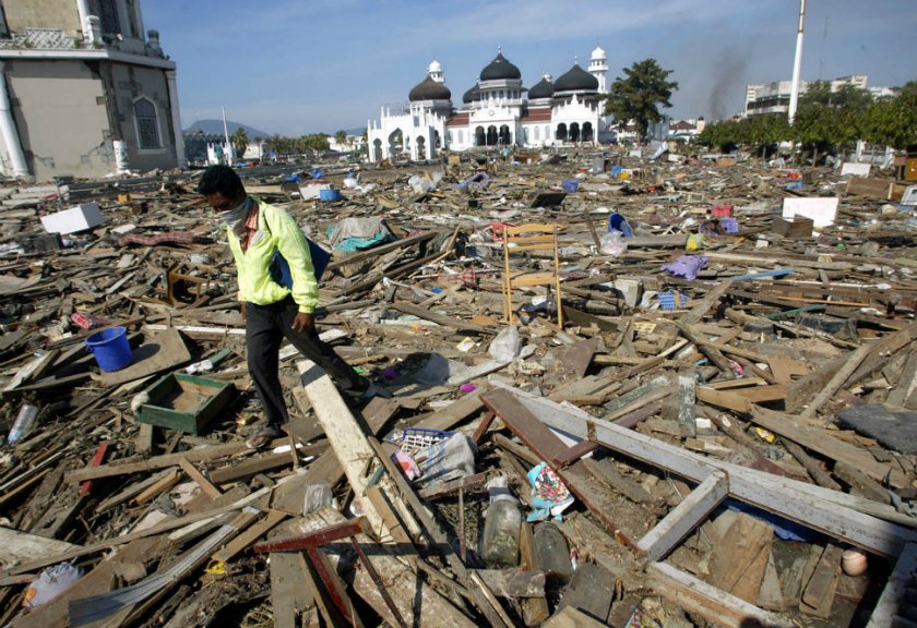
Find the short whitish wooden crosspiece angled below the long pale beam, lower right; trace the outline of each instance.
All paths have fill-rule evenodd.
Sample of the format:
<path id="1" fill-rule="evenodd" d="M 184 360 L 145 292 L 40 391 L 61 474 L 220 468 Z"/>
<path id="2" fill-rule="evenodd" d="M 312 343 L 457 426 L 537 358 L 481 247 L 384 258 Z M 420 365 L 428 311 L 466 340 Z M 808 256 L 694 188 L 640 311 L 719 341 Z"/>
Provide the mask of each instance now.
<path id="1" fill-rule="evenodd" d="M 700 526 L 728 494 L 729 481 L 726 474 L 722 471 L 711 473 L 681 504 L 656 523 L 636 546 L 646 552 L 651 560 L 660 560 Z"/>

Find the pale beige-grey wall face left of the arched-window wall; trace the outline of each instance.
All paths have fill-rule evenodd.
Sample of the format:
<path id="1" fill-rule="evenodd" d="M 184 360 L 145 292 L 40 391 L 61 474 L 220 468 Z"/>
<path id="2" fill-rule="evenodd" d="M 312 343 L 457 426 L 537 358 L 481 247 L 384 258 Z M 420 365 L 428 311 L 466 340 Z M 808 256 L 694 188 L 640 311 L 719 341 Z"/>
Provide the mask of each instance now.
<path id="1" fill-rule="evenodd" d="M 105 92 L 86 62 L 10 60 L 7 81 L 20 142 L 37 180 L 115 170 Z"/>

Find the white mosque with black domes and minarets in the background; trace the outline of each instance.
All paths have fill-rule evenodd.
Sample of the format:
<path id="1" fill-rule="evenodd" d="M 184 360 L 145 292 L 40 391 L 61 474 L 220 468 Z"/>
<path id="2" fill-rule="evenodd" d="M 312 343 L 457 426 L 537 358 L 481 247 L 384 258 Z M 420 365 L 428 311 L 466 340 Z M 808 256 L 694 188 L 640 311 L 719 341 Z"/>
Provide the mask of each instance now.
<path id="1" fill-rule="evenodd" d="M 607 74 L 608 58 L 598 47 L 588 71 L 574 63 L 557 81 L 545 74 L 526 89 L 519 68 L 498 51 L 456 109 L 442 65 L 433 60 L 408 105 L 383 106 L 380 121 L 368 122 L 370 160 L 432 159 L 444 148 L 596 142 L 606 131 L 597 96 L 607 92 Z"/>

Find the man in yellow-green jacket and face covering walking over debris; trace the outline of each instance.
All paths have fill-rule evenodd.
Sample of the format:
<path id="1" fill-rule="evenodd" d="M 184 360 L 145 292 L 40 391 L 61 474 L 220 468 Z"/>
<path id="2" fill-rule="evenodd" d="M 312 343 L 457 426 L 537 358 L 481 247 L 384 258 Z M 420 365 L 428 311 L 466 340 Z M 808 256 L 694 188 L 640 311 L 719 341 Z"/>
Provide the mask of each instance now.
<path id="1" fill-rule="evenodd" d="M 324 369 L 346 395 L 368 397 L 377 391 L 319 338 L 313 314 L 319 283 L 309 243 L 293 217 L 249 196 L 239 176 L 228 166 L 207 168 L 198 192 L 226 225 L 246 319 L 248 369 L 264 407 L 264 426 L 246 445 L 252 449 L 265 447 L 282 436 L 279 427 L 289 418 L 279 379 L 278 354 L 284 338 Z M 272 275 L 275 252 L 289 265 L 291 288 Z"/>

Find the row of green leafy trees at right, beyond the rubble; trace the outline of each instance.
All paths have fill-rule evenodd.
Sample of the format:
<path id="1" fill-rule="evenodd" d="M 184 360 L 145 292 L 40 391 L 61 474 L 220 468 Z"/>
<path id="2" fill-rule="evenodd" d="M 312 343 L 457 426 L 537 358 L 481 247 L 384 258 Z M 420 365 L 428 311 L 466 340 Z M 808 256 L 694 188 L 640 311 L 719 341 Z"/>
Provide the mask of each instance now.
<path id="1" fill-rule="evenodd" d="M 858 140 L 894 148 L 917 144 L 917 81 L 879 99 L 853 85 L 832 92 L 830 83 L 817 81 L 800 96 L 793 125 L 784 113 L 726 120 L 708 124 L 696 142 L 720 150 L 742 146 L 762 157 L 779 142 L 795 142 L 817 164 Z"/>

